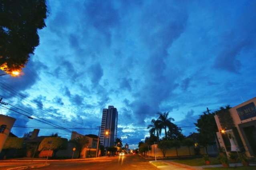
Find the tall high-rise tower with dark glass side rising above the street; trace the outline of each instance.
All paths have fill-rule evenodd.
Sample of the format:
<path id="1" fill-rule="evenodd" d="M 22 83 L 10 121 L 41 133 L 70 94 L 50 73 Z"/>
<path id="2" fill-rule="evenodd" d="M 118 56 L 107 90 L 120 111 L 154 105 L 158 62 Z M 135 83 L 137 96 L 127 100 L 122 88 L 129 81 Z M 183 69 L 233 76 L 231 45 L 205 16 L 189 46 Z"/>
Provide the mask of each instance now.
<path id="1" fill-rule="evenodd" d="M 103 109 L 100 142 L 104 147 L 114 146 L 117 138 L 118 112 L 114 106 Z"/>

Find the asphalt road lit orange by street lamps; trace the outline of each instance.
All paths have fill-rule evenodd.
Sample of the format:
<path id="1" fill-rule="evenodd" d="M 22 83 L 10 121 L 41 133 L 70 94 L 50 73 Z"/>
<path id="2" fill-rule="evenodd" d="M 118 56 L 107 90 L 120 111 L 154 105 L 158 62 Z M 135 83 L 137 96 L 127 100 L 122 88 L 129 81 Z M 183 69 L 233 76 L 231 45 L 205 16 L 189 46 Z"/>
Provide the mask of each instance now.
<path id="1" fill-rule="evenodd" d="M 9 162 L 5 167 L 4 162 L 0 162 L 0 170 L 12 168 L 15 166 L 29 165 L 32 162 Z M 42 162 L 33 162 L 42 163 Z M 50 166 L 42 168 L 34 168 L 37 170 L 157 170 L 153 165 L 149 164 L 149 160 L 139 155 L 111 156 L 96 160 L 80 160 L 80 161 L 54 161 L 48 162 Z M 2 167 L 1 167 L 2 166 Z M 8 167 L 7 167 L 8 166 Z"/>

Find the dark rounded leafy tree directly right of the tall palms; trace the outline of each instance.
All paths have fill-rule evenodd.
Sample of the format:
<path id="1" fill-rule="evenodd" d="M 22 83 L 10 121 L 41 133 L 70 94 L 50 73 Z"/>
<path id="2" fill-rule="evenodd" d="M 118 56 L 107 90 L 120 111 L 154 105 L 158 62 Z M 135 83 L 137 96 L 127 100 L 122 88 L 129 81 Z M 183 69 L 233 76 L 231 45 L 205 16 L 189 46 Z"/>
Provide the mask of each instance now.
<path id="1" fill-rule="evenodd" d="M 169 130 L 167 132 L 167 138 L 168 140 L 183 140 L 185 136 L 181 133 L 181 128 L 179 128 L 174 123 L 169 124 Z"/>

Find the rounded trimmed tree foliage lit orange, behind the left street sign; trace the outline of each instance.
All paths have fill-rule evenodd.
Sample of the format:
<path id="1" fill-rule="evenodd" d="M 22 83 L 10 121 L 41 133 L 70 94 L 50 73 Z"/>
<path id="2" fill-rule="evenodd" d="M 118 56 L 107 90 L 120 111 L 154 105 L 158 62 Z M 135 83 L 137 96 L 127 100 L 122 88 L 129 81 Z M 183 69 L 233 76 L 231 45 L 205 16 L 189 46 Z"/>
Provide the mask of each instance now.
<path id="1" fill-rule="evenodd" d="M 68 146 L 68 140 L 60 137 L 44 138 L 40 143 L 38 150 L 58 150 L 65 149 Z"/>

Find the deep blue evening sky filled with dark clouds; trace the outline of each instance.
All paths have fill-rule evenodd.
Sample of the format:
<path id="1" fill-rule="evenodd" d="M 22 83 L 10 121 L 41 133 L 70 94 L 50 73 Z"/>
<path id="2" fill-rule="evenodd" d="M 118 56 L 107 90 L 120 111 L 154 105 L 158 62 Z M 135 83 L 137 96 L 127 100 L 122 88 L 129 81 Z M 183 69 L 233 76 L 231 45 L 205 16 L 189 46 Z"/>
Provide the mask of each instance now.
<path id="1" fill-rule="evenodd" d="M 256 97 L 256 1 L 49 0 L 40 45 L 4 101 L 63 127 L 96 128 L 114 105 L 119 128 L 169 111 L 185 135 L 198 115 Z M 7 87 L 5 87 L 5 85 Z M 1 108 L 16 125 L 49 127 Z M 32 128 L 13 128 L 19 136 Z M 97 130 L 76 130 L 97 134 Z M 65 130 L 41 129 L 40 135 Z M 147 129 L 118 130 L 137 144 Z"/>

